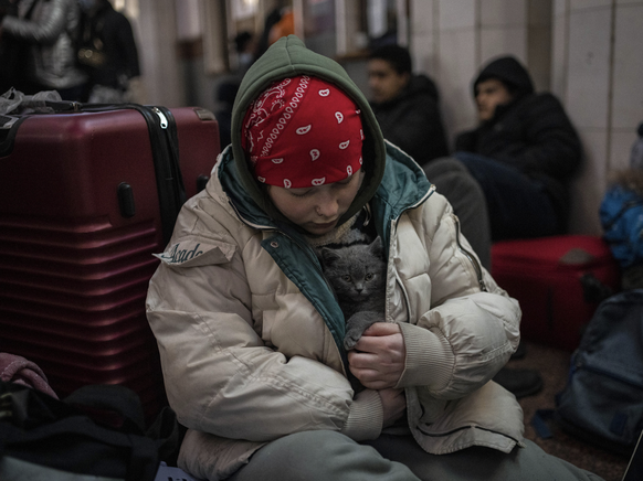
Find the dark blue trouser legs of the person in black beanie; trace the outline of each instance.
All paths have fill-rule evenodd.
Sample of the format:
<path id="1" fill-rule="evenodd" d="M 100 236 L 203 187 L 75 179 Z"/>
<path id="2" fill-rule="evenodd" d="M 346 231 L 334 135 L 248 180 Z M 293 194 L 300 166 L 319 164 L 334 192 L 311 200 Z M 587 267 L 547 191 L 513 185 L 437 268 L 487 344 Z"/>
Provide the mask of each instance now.
<path id="1" fill-rule="evenodd" d="M 471 152 L 455 152 L 481 184 L 487 201 L 492 239 L 555 235 L 558 218 L 545 185 L 519 170 Z"/>

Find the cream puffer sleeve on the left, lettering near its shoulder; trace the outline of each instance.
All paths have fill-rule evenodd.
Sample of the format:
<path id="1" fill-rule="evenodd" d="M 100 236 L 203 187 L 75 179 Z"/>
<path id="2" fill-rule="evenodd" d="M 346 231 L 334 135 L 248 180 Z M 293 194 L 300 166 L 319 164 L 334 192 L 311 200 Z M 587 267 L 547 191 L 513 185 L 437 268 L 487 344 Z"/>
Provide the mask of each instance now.
<path id="1" fill-rule="evenodd" d="M 315 429 L 356 440 L 379 436 L 383 415 L 377 392 L 354 399 L 341 373 L 315 359 L 286 356 L 262 340 L 253 322 L 256 299 L 244 247 L 225 238 L 198 240 L 199 249 L 208 250 L 197 260 L 201 265 L 193 259 L 183 267 L 161 264 L 147 297 L 168 399 L 180 423 L 251 441 Z M 175 254 L 181 252 L 191 248 Z M 288 296 L 301 295 L 281 298 Z"/>

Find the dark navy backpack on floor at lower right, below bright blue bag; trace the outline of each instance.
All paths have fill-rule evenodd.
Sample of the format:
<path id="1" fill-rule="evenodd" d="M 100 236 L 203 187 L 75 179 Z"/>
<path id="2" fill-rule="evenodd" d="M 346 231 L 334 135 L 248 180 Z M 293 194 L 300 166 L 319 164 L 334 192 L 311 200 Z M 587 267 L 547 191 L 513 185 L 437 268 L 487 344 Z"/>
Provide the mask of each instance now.
<path id="1" fill-rule="evenodd" d="M 542 437 L 551 436 L 541 423 L 546 417 L 586 442 L 632 453 L 643 428 L 643 289 L 619 292 L 599 306 L 571 356 L 556 409 L 535 417 Z"/>

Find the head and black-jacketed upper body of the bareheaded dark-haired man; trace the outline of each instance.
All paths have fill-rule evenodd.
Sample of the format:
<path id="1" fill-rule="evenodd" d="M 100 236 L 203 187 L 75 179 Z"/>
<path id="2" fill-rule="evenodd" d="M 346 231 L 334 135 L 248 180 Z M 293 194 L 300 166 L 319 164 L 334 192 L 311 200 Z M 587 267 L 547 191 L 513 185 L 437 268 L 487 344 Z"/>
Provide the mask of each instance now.
<path id="1" fill-rule="evenodd" d="M 387 140 L 420 165 L 446 156 L 438 88 L 431 78 L 413 74 L 411 55 L 400 45 L 384 45 L 369 56 L 371 108 Z"/>

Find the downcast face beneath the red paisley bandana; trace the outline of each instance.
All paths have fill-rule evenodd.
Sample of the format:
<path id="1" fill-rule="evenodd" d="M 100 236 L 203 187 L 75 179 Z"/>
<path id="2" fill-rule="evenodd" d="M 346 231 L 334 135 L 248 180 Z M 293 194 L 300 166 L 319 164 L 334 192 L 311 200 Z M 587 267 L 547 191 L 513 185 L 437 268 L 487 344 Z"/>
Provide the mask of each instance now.
<path id="1" fill-rule="evenodd" d="M 313 235 L 333 231 L 339 218 L 348 211 L 363 181 L 363 169 L 331 184 L 285 189 L 267 186 L 275 206 L 291 222 Z"/>

